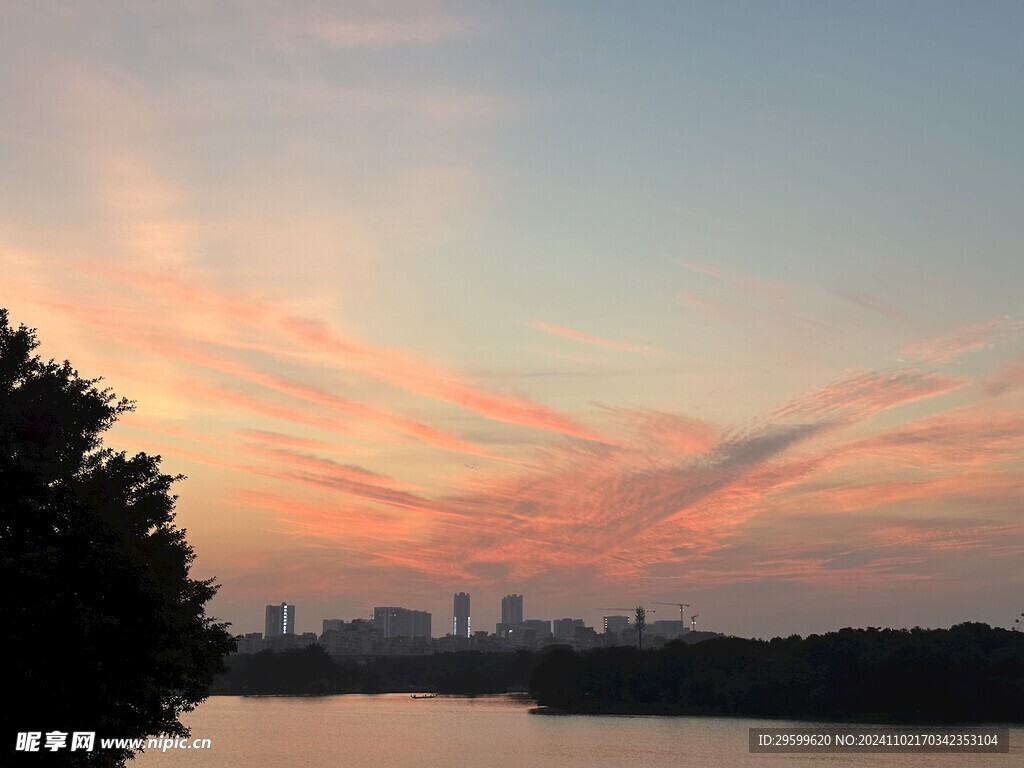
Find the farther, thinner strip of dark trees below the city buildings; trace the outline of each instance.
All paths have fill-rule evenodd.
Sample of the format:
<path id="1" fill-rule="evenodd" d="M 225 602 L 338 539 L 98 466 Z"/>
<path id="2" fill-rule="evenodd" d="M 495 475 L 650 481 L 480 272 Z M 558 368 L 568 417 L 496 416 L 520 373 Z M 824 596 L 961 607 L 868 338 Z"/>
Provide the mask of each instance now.
<path id="1" fill-rule="evenodd" d="M 319 645 L 230 656 L 213 694 L 505 693 L 525 690 L 540 660 L 536 653 L 459 651 L 424 656 L 336 659 Z"/>

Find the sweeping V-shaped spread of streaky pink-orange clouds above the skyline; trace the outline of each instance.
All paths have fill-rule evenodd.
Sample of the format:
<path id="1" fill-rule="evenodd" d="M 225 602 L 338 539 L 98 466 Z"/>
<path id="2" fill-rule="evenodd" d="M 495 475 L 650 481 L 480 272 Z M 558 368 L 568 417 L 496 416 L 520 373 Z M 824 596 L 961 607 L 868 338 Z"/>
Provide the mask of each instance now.
<path id="1" fill-rule="evenodd" d="M 140 279 L 135 290 L 162 301 L 185 290 L 190 280 L 160 285 Z M 316 495 L 315 502 L 299 494 L 295 505 L 278 504 L 278 524 L 303 546 L 330 546 L 344 541 L 346 531 L 366 526 L 362 541 L 375 550 L 368 568 L 383 563 L 396 572 L 439 578 L 451 574 L 457 562 L 455 570 L 467 584 L 493 585 L 507 579 L 557 579 L 586 551 L 590 579 L 603 584 L 660 584 L 683 572 L 709 585 L 758 573 L 828 585 L 837 584 L 843 572 L 856 573 L 865 585 L 887 579 L 909 583 L 932 567 L 938 548 L 988 541 L 1001 523 L 996 519 L 990 529 L 981 525 L 973 532 L 965 528 L 959 539 L 949 534 L 943 544 L 914 548 L 903 543 L 902 549 L 891 550 L 854 528 L 830 552 L 809 551 L 806 545 L 787 549 L 780 543 L 781 531 L 812 513 L 885 519 L 891 510 L 908 505 L 976 504 L 997 517 L 1008 514 L 1008 495 L 1020 490 L 1012 473 L 994 466 L 1019 460 L 1024 450 L 1019 438 L 1024 428 L 1005 413 L 940 412 L 868 436 L 858 429 L 879 414 L 925 399 L 934 399 L 941 409 L 941 395 L 969 383 L 964 377 L 913 368 L 853 372 L 746 428 L 601 407 L 601 414 L 618 428 L 607 430 L 614 440 L 598 441 L 563 414 L 478 387 L 412 352 L 356 341 L 269 302 L 256 312 L 252 304 L 224 309 L 218 296 L 209 287 L 201 289 L 197 305 L 218 323 L 245 313 L 247 327 L 261 339 L 259 350 L 236 347 L 228 339 L 223 351 L 215 351 L 208 340 L 167 341 L 153 329 L 142 334 L 148 340 L 140 342 L 146 354 L 190 360 L 216 374 L 195 381 L 191 395 L 200 400 L 301 425 L 303 433 L 325 428 L 351 433 L 354 424 L 362 423 L 368 438 L 382 439 L 377 430 L 383 429 L 385 434 L 416 436 L 432 447 L 444 444 L 443 439 L 423 439 L 413 423 L 395 422 L 396 415 L 370 407 L 364 411 L 361 403 L 336 399 L 327 386 L 309 383 L 299 373 L 286 377 L 262 364 L 243 362 L 240 355 L 247 350 L 280 360 L 284 357 L 273 351 L 280 347 L 292 355 L 293 371 L 312 364 L 355 373 L 406 392 L 465 404 L 497 421 L 581 438 L 537 444 L 528 466 L 467 469 L 432 490 L 329 458 L 324 443 L 330 441 L 318 437 L 290 441 L 271 435 L 263 440 L 260 433 L 246 430 L 239 434 L 243 441 L 233 450 L 233 460 L 226 461 L 219 450 L 190 455 L 211 466 L 285 483 L 281 487 L 293 493 Z M 120 322 L 111 318 L 115 321 Z M 913 475 L 927 472 L 930 463 L 946 475 Z M 958 472 L 957 467 L 970 471 Z M 991 493 L 980 490 L 978 483 Z M 757 521 L 766 517 L 775 523 L 758 528 Z M 755 546 L 751 537 L 757 530 L 766 538 Z M 753 554 L 757 551 L 759 557 Z"/>

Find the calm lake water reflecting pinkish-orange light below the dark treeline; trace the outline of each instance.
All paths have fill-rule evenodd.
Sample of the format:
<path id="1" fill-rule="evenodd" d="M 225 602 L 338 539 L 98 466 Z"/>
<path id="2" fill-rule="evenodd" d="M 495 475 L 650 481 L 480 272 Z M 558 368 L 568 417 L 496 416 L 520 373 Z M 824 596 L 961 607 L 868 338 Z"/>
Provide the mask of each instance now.
<path id="1" fill-rule="evenodd" d="M 710 768 L 715 766 L 1024 765 L 1024 728 L 1002 755 L 751 754 L 748 729 L 781 721 L 530 715 L 514 695 L 413 699 L 409 694 L 310 698 L 214 696 L 185 716 L 210 750 L 146 752 L 133 768 Z M 800 723 L 806 727 L 808 724 Z M 820 724 L 818 724 L 820 725 Z"/>

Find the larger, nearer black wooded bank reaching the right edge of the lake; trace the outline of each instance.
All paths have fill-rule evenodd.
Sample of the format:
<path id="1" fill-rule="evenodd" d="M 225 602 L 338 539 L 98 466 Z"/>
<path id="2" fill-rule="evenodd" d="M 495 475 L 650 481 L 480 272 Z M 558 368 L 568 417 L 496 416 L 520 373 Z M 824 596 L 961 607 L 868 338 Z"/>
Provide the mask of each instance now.
<path id="1" fill-rule="evenodd" d="M 656 650 L 549 649 L 529 686 L 554 712 L 861 721 L 1024 721 L 1024 633 L 845 629 Z"/>

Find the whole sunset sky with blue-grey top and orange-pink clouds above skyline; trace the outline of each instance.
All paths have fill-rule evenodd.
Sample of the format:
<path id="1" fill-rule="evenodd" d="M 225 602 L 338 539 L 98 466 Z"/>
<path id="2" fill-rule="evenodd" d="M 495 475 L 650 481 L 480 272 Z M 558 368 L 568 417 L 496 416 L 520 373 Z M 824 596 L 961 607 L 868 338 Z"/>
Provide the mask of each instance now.
<path id="1" fill-rule="evenodd" d="M 0 9 L 0 306 L 233 631 L 1024 610 L 1024 4 Z"/>

